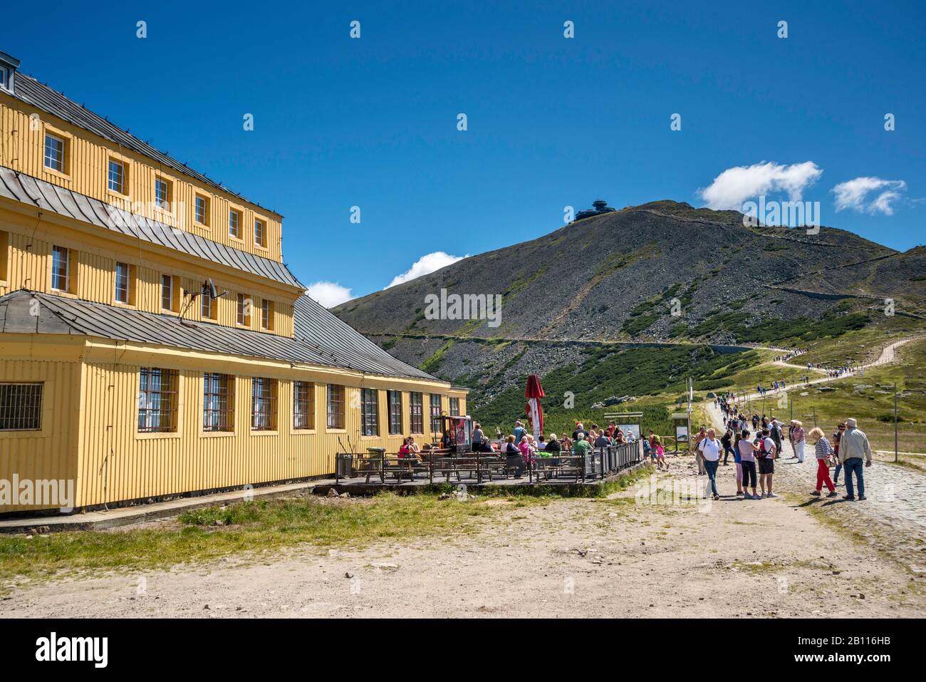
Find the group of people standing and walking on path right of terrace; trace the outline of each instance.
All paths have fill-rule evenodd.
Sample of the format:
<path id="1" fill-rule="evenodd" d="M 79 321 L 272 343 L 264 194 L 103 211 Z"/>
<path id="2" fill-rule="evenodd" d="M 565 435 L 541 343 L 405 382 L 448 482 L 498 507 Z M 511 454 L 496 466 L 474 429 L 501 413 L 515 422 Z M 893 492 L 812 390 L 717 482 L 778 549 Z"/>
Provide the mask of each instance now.
<path id="1" fill-rule="evenodd" d="M 694 437 L 695 458 L 698 474 L 707 474 L 714 499 L 720 499 L 717 490 L 717 468 L 720 456 L 727 465 L 732 455 L 736 466 L 736 495 L 744 499 L 777 497 L 772 490 L 775 460 L 781 458 L 782 443 L 787 437 L 794 454 L 790 459 L 804 462 L 807 438 L 814 444 L 817 461 L 817 486 L 810 493 L 822 495 L 827 488 L 827 497 L 836 497 L 839 474 L 845 470 L 845 495 L 843 499 L 866 499 L 864 468 L 871 466 L 871 446 L 868 436 L 857 426 L 855 419 L 840 422 L 832 434 L 832 441 L 823 429 L 814 427 L 809 433 L 800 420 L 791 420 L 784 431 L 784 423 L 774 416 L 753 413 L 751 417 L 738 409 L 730 397 L 718 398 L 723 414 L 725 433 L 720 438 L 714 429 L 702 426 Z M 750 431 L 749 426 L 752 426 Z M 834 469 L 832 477 L 830 469 Z M 758 473 L 758 476 L 757 476 Z M 758 477 L 758 493 L 756 479 Z M 855 481 L 853 481 L 853 477 Z M 856 495 L 856 484 L 858 493 Z M 751 492 L 750 492 L 751 490 Z"/>

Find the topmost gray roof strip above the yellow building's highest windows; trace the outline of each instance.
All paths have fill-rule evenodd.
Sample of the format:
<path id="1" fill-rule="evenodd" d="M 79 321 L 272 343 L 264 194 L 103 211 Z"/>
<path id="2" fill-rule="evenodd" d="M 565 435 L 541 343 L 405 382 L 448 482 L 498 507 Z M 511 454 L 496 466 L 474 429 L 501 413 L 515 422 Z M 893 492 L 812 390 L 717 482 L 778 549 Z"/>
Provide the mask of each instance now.
<path id="1" fill-rule="evenodd" d="M 206 175 L 203 175 L 201 172 L 193 170 L 185 163 L 178 161 L 176 158 L 169 157 L 164 152 L 158 151 L 153 146 L 143 142 L 128 131 L 122 130 L 119 128 L 119 126 L 115 125 L 111 121 L 103 118 L 102 116 L 94 114 L 94 112 L 90 109 L 82 107 L 74 100 L 69 99 L 62 93 L 57 92 L 44 83 L 36 81 L 31 76 L 27 76 L 21 71 L 16 72 L 15 86 L 13 88 L 12 95 L 17 99 L 25 102 L 26 104 L 31 105 L 32 107 L 47 111 L 49 114 L 52 114 L 59 119 L 67 120 L 69 123 L 72 123 L 73 125 L 76 125 L 85 131 L 90 131 L 91 133 L 99 135 L 106 140 L 115 142 L 117 145 L 122 145 L 127 149 L 131 149 L 133 152 L 144 154 L 146 157 L 153 158 L 158 163 L 168 166 L 174 170 L 178 170 L 185 175 L 189 175 L 200 183 L 207 184 L 210 187 L 215 187 L 216 189 L 227 192 L 230 195 L 238 196 L 243 201 L 247 201 L 249 204 L 260 206 L 253 201 L 245 199 L 244 196 L 239 195 L 237 192 L 232 192 L 232 190 L 230 190 L 225 185 L 206 177 Z M 276 213 L 276 211 L 272 212 Z"/>

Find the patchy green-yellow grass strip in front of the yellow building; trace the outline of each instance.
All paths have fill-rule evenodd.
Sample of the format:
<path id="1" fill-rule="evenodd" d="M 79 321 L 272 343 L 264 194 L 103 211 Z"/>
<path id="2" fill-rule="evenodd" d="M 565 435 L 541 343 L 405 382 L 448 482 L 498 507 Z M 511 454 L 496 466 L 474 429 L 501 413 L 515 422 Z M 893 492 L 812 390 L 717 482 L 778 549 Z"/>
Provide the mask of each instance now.
<path id="1" fill-rule="evenodd" d="M 0 577 L 168 568 L 301 543 L 364 547 L 382 539 L 470 534 L 505 509 L 486 501 L 385 493 L 371 499 L 270 499 L 186 512 L 179 524 L 165 528 L 69 531 L 28 539 L 0 535 Z M 546 502 L 512 501 L 521 506 Z"/>

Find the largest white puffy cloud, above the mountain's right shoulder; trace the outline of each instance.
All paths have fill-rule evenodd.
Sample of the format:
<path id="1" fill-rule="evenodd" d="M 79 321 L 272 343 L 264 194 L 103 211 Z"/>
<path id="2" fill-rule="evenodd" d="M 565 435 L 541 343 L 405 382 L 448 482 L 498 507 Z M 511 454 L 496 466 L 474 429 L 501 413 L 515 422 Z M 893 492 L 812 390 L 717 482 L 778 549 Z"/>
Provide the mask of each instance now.
<path id="1" fill-rule="evenodd" d="M 707 208 L 715 210 L 743 210 L 747 199 L 772 192 L 787 192 L 791 201 L 799 201 L 804 190 L 822 174 L 823 170 L 813 161 L 790 166 L 762 161 L 724 170 L 699 194 L 707 201 Z"/>

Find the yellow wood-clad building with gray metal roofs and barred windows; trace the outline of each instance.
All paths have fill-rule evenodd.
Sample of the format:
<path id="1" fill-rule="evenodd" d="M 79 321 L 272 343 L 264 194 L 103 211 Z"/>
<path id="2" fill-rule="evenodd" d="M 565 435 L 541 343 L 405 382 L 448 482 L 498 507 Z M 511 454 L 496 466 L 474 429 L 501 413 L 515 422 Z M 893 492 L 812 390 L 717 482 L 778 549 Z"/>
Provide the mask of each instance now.
<path id="1" fill-rule="evenodd" d="M 0 492 L 95 508 L 332 474 L 432 440 L 466 389 L 305 295 L 282 216 L 0 53 Z M 340 441 L 340 444 L 339 444 Z M 59 507 L 0 495 L 0 514 Z"/>

